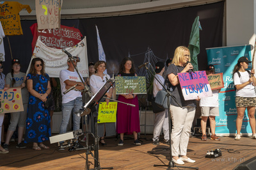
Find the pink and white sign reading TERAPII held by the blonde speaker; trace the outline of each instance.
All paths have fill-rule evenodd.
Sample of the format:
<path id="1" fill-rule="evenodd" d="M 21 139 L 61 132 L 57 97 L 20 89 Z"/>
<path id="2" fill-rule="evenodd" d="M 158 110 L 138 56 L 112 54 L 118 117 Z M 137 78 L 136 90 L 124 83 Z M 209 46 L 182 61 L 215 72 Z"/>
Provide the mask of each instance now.
<path id="1" fill-rule="evenodd" d="M 182 95 L 185 100 L 194 100 L 197 97 L 212 97 L 205 71 L 178 73 Z"/>

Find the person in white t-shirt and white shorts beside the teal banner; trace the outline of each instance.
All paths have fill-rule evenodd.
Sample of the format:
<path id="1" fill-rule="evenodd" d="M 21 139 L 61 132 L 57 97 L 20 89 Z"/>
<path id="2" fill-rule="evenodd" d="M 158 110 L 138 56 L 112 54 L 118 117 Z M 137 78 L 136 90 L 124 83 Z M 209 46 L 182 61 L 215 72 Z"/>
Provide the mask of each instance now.
<path id="1" fill-rule="evenodd" d="M 207 75 L 215 73 L 214 65 L 208 65 L 205 69 Z M 211 128 L 211 140 L 220 141 L 220 137 L 215 134 L 216 121 L 215 117 L 220 116 L 219 112 L 219 92 L 220 89 L 212 90 L 212 97 L 201 98 L 200 107 L 202 112 L 201 128 L 202 128 L 202 141 L 207 141 L 206 124 L 209 117 Z"/>

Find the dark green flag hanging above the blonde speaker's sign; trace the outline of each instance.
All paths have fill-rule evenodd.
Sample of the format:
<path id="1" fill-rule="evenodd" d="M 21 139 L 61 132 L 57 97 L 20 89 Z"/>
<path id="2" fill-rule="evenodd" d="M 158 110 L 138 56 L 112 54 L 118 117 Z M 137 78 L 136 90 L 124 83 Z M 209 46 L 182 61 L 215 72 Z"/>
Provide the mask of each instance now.
<path id="1" fill-rule="evenodd" d="M 200 53 L 200 39 L 199 39 L 199 29 L 202 27 L 199 22 L 199 17 L 197 16 L 190 33 L 188 49 L 190 50 L 191 64 L 195 71 L 198 71 L 197 55 Z"/>

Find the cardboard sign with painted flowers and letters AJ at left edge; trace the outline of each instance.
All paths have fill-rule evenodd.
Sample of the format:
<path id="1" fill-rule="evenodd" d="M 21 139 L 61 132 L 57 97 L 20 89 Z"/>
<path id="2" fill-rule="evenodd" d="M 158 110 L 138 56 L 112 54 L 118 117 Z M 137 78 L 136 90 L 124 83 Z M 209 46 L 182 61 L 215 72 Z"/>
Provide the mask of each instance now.
<path id="1" fill-rule="evenodd" d="M 0 90 L 0 114 L 24 111 L 20 88 Z"/>

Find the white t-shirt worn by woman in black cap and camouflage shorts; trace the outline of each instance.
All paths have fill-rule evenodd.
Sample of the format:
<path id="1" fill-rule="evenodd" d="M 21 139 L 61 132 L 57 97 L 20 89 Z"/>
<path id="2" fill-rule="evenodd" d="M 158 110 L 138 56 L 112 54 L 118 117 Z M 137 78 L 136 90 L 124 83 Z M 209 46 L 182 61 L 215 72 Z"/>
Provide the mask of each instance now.
<path id="1" fill-rule="evenodd" d="M 234 85 L 243 84 L 244 82 L 249 81 L 251 75 L 247 71 L 239 72 L 241 76 L 238 76 L 238 73 L 234 73 Z M 255 86 L 252 83 L 246 85 L 244 88 L 237 90 L 236 89 L 236 96 L 237 97 L 256 97 L 255 95 Z"/>

